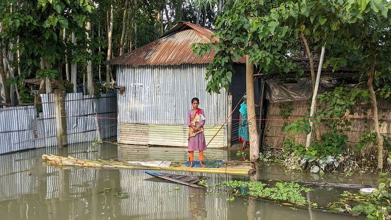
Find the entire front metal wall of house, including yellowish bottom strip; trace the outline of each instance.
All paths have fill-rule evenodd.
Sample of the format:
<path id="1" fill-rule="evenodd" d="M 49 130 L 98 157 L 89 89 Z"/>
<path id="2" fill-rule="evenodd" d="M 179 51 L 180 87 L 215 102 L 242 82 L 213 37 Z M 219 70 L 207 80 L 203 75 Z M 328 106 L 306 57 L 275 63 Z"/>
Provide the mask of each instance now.
<path id="1" fill-rule="evenodd" d="M 187 146 L 185 125 L 194 97 L 205 111 L 206 136 L 227 118 L 226 90 L 206 92 L 206 65 L 118 66 L 116 71 L 117 85 L 126 88 L 118 95 L 118 143 Z M 210 147 L 226 146 L 225 125 Z"/>

